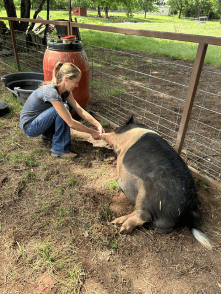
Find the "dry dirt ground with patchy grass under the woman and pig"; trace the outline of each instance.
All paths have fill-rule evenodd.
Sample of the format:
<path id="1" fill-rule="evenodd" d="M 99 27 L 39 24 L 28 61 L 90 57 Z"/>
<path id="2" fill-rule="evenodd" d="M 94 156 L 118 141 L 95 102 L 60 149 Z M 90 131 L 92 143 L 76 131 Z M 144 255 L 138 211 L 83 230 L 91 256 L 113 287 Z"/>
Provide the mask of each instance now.
<path id="1" fill-rule="evenodd" d="M 4 101 L 3 84 L 0 95 Z M 133 207 L 108 185 L 117 179 L 116 162 L 107 163 L 115 154 L 103 141 L 72 130 L 79 158 L 62 161 L 51 158 L 50 144 L 41 143 L 40 137 L 24 136 L 19 113 L 0 117 L 0 122 L 1 294 L 221 293 L 219 190 L 197 182 L 200 228 L 208 234 L 212 251 L 199 245 L 186 227 L 162 235 L 146 225 L 121 235 L 111 221 Z M 38 164 L 30 165 L 24 157 L 12 161 L 13 155 L 30 150 L 35 150 L 32 161 Z M 76 179 L 73 186 L 67 184 L 70 177 Z M 50 243 L 59 254 L 43 262 L 39 242 Z M 77 271 L 64 271 L 60 255 L 67 265 L 73 258 L 80 267 L 75 290 L 64 290 Z"/>

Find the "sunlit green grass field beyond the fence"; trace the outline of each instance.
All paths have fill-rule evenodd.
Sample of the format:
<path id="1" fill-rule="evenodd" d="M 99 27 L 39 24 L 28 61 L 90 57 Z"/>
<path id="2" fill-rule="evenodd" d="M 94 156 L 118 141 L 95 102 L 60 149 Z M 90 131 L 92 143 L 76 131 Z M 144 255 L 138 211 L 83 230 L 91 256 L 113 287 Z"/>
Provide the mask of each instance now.
<path id="1" fill-rule="evenodd" d="M 31 16 L 34 11 L 31 11 Z M 41 11 L 40 16 L 46 18 L 46 11 Z M 67 19 L 67 11 L 50 11 L 51 20 Z M 87 12 L 87 17 L 77 17 L 78 23 L 99 24 L 130 29 L 146 29 L 153 31 L 175 32 L 182 34 L 206 35 L 220 37 L 221 25 L 219 21 L 184 22 L 178 19 L 178 16 L 160 16 L 134 14 L 133 18 L 127 18 L 125 13 L 109 13 L 109 19 L 104 19 L 104 12 L 101 12 L 102 18 L 96 17 L 97 13 Z M 4 11 L 0 16 L 7 16 Z M 17 15 L 19 17 L 19 13 Z M 197 52 L 197 43 L 181 42 L 173 40 L 155 39 L 148 37 L 139 37 L 133 35 L 124 35 L 116 33 L 101 32 L 89 29 L 80 29 L 80 35 L 83 43 L 101 46 L 110 49 L 132 50 L 139 52 L 148 52 L 151 55 L 167 56 L 175 59 L 194 61 Z M 102 41 L 101 41 L 102 40 Z M 205 62 L 213 65 L 221 65 L 220 47 L 209 45 Z"/>

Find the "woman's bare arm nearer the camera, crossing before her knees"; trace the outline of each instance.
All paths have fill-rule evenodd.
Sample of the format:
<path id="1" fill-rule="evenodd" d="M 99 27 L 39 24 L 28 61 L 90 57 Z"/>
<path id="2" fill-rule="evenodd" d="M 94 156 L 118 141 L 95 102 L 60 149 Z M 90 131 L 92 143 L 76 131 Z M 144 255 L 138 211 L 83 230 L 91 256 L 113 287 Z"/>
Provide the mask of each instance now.
<path id="1" fill-rule="evenodd" d="M 93 137 L 94 140 L 100 140 L 99 132 L 84 126 L 82 123 L 80 123 L 77 120 L 74 120 L 72 118 L 70 112 L 67 110 L 67 108 L 64 106 L 64 104 L 61 101 L 53 100 L 50 102 L 54 106 L 58 115 L 61 116 L 61 118 L 67 123 L 67 125 L 70 128 L 72 128 L 76 131 L 89 133 L 89 134 L 91 134 L 91 136 Z"/>

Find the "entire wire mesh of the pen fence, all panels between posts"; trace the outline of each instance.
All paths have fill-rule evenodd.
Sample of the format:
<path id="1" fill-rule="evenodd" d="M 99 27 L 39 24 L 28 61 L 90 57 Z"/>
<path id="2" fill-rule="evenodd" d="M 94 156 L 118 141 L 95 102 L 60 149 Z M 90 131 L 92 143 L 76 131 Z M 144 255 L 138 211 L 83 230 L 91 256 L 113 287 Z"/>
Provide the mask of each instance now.
<path id="1" fill-rule="evenodd" d="M 22 72 L 43 72 L 46 46 L 16 34 Z M 83 45 L 90 66 L 88 108 L 117 125 L 131 113 L 175 145 L 193 64 L 137 52 Z M 11 36 L 0 35 L 0 61 L 16 67 Z M 221 70 L 204 65 L 181 156 L 220 180 Z"/>

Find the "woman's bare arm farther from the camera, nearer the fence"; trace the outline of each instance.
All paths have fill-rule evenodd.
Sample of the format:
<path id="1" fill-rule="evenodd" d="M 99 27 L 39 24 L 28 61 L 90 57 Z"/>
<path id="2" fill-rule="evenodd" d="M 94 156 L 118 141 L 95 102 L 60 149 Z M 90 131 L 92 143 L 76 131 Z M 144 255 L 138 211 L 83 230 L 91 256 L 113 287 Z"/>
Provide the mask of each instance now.
<path id="1" fill-rule="evenodd" d="M 100 135 L 102 135 L 102 133 L 105 133 L 105 131 L 104 131 L 103 127 L 101 126 L 101 124 L 99 123 L 99 121 L 95 120 L 95 118 L 92 115 L 90 115 L 86 110 L 84 110 L 78 104 L 78 102 L 73 98 L 72 93 L 70 93 L 70 95 L 66 98 L 66 101 L 67 101 L 68 105 L 70 105 L 81 118 L 83 118 L 84 120 L 86 120 L 87 122 L 89 122 L 93 126 L 95 126 L 97 128 L 97 130 L 99 131 Z"/>

